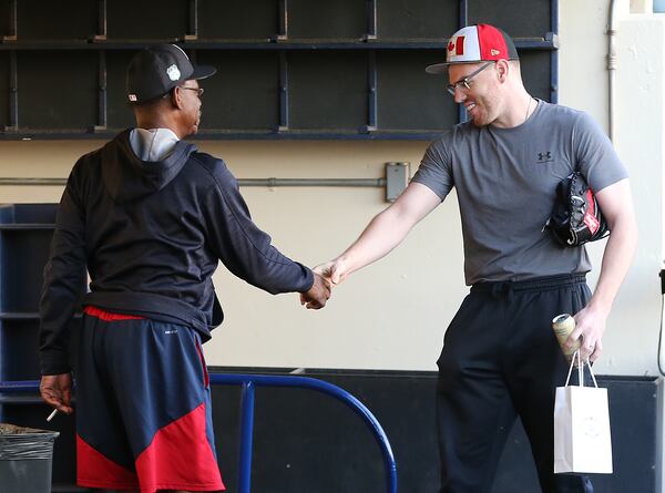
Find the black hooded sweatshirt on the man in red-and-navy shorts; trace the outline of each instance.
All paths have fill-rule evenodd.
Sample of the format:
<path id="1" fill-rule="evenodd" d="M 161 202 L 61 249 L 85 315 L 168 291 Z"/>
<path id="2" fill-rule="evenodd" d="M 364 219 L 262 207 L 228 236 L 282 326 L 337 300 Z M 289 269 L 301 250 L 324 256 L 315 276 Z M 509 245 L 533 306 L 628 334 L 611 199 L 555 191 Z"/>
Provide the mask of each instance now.
<path id="1" fill-rule="evenodd" d="M 193 327 L 223 319 L 218 260 L 272 294 L 306 291 L 311 271 L 270 245 L 223 161 L 180 141 L 141 161 L 130 131 L 82 156 L 60 202 L 40 301 L 42 374 L 70 371 L 68 325 L 83 305 Z M 92 283 L 82 292 L 85 268 Z"/>

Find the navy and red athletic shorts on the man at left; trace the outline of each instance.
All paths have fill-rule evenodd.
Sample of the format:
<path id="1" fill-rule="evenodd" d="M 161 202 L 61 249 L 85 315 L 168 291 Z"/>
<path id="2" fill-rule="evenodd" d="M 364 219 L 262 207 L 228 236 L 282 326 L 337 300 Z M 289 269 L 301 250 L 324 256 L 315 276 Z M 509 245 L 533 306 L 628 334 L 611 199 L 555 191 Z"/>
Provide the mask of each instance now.
<path id="1" fill-rule="evenodd" d="M 141 493 L 224 490 L 196 331 L 94 307 L 84 311 L 78 484 Z"/>

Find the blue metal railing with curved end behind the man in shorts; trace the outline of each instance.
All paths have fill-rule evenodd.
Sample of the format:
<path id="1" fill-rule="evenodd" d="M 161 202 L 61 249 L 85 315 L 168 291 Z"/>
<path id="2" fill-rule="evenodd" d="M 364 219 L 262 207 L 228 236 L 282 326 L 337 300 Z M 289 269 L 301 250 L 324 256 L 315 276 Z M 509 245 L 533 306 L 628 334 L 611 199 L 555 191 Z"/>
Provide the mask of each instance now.
<path id="1" fill-rule="evenodd" d="M 249 493 L 252 486 L 252 448 L 254 436 L 254 394 L 257 387 L 297 387 L 323 392 L 351 408 L 370 428 L 381 450 L 389 493 L 397 493 L 397 465 L 386 432 L 367 407 L 346 390 L 332 383 L 309 377 L 211 373 L 211 383 L 241 386 L 241 452 L 238 463 L 238 492 Z M 33 392 L 38 380 L 0 382 L 0 392 Z"/>

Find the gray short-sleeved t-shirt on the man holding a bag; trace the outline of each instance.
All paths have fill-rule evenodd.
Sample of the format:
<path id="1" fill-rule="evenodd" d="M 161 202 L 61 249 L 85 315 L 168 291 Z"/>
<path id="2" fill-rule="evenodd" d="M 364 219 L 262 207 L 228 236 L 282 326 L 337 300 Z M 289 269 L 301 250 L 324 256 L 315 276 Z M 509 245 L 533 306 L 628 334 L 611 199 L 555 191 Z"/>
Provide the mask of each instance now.
<path id="1" fill-rule="evenodd" d="M 556 185 L 573 171 L 594 192 L 627 177 L 591 116 L 539 101 L 529 120 L 512 129 L 456 125 L 429 146 L 412 181 L 441 201 L 456 187 L 464 275 L 472 285 L 591 270 L 584 247 L 562 247 L 542 230 Z"/>

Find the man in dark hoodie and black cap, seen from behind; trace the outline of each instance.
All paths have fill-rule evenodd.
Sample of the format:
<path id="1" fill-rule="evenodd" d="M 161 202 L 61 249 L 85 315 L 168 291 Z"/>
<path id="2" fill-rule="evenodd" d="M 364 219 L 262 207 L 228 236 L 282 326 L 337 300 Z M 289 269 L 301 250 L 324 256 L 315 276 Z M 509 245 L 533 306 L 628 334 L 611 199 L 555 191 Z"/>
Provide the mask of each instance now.
<path id="1" fill-rule="evenodd" d="M 40 390 L 72 412 L 68 325 L 82 301 L 81 486 L 224 490 L 201 350 L 223 319 L 212 283 L 219 260 L 268 292 L 301 292 L 307 308 L 330 295 L 252 222 L 224 162 L 183 141 L 198 130 L 198 80 L 214 73 L 173 44 L 136 54 L 136 129 L 82 156 L 60 203 L 40 302 Z"/>

